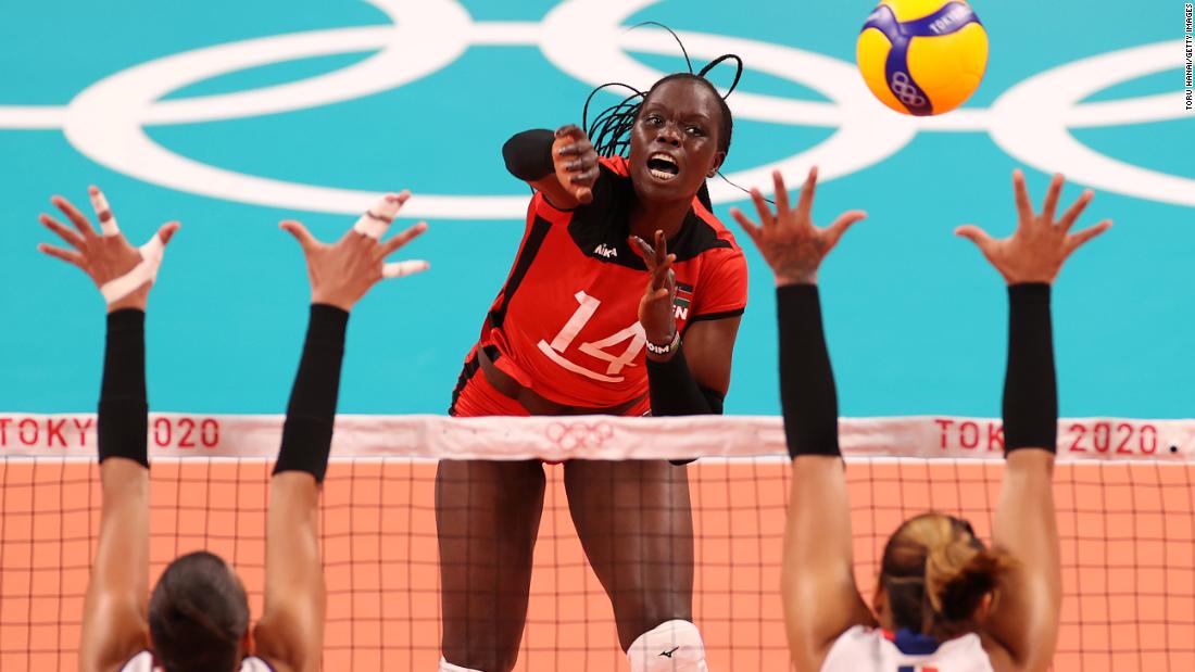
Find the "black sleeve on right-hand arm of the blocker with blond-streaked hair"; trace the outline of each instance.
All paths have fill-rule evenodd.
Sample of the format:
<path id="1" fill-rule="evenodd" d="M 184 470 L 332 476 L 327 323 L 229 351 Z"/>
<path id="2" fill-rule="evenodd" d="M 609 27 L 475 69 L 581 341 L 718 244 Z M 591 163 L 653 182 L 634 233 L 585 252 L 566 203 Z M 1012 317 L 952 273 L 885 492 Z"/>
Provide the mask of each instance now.
<path id="1" fill-rule="evenodd" d="M 1004 377 L 1005 452 L 1058 448 L 1058 383 L 1050 286 L 1009 286 L 1009 368 Z"/>

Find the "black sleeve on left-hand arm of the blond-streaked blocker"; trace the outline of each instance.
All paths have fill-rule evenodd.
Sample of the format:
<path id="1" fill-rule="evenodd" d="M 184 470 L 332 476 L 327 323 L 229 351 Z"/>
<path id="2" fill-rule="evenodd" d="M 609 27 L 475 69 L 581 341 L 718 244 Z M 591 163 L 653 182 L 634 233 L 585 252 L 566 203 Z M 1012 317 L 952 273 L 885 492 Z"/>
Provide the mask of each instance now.
<path id="1" fill-rule="evenodd" d="M 780 407 L 789 455 L 842 455 L 838 394 L 826 350 L 817 285 L 776 290 L 780 321 Z"/>

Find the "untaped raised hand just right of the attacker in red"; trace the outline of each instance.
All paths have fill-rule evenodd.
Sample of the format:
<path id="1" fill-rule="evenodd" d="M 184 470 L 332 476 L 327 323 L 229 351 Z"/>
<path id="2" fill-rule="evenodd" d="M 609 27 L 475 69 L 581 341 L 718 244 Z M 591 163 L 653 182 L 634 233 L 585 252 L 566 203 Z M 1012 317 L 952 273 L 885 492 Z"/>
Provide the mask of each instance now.
<path id="1" fill-rule="evenodd" d="M 731 208 L 730 215 L 755 241 L 755 247 L 776 275 L 777 285 L 816 284 L 822 259 L 838 245 L 851 224 L 868 215 L 862 210 L 850 210 L 839 215 L 831 226 L 817 228 L 810 217 L 817 187 L 817 167 L 809 169 L 796 209 L 789 208 L 789 192 L 779 171 L 772 173 L 772 180 L 776 184 L 774 215 L 758 189 L 750 190 L 750 197 L 759 211 L 760 226 L 755 226 L 737 208 Z"/>

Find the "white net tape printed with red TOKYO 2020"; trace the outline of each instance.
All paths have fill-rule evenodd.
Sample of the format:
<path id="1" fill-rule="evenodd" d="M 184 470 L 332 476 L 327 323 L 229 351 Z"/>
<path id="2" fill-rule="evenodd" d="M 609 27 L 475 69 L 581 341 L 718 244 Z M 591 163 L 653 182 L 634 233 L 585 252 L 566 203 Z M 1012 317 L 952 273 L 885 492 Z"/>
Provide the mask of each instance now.
<path id="1" fill-rule="evenodd" d="M 839 427 L 848 458 L 1003 457 L 1001 425 L 991 418 L 844 418 Z M 281 436 L 281 415 L 154 413 L 149 419 L 149 455 L 272 458 Z M 96 417 L 2 413 L 0 456 L 94 460 Z M 332 448 L 333 460 L 698 456 L 783 460 L 786 450 L 780 418 L 338 415 Z M 1068 462 L 1195 462 L 1195 420 L 1064 419 L 1059 421 L 1058 456 Z"/>

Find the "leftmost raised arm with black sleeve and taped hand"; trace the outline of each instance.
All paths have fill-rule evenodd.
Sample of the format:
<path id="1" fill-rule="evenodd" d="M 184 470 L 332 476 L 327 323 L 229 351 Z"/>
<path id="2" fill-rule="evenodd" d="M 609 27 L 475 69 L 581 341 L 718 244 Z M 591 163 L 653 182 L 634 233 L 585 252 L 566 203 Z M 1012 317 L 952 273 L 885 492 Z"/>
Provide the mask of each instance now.
<path id="1" fill-rule="evenodd" d="M 133 247 L 99 189 L 88 189 L 99 230 L 69 201 L 50 199 L 71 227 L 42 214 L 42 224 L 67 247 L 37 248 L 76 266 L 108 303 L 104 374 L 97 437 L 103 508 L 99 540 L 84 599 L 79 668 L 115 671 L 149 645 L 148 402 L 145 366 L 145 310 L 165 246 L 177 222 L 160 227 L 146 245 Z"/>

